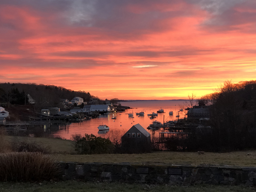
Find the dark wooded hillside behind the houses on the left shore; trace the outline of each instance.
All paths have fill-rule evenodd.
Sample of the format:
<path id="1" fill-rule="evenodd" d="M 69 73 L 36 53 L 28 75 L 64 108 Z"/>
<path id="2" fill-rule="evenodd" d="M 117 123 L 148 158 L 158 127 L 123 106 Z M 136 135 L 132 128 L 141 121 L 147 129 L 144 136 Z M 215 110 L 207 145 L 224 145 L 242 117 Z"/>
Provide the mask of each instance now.
<path id="1" fill-rule="evenodd" d="M 0 83 L 0 103 L 24 105 L 28 103 L 28 94 L 35 100 L 36 109 L 57 107 L 61 99 L 68 99 L 69 101 L 74 97 L 81 97 L 84 101 L 89 101 L 91 98 L 98 99 L 89 92 L 73 91 L 54 85 Z"/>

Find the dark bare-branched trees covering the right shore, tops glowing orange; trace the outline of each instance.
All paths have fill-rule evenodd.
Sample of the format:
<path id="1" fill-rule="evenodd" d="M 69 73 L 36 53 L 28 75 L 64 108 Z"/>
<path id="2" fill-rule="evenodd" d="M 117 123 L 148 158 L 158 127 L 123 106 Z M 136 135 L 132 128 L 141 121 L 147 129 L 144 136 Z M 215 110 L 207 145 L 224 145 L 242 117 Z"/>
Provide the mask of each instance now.
<path id="1" fill-rule="evenodd" d="M 225 81 L 201 100 L 209 105 L 212 132 L 195 135 L 191 147 L 205 151 L 256 148 L 256 81 Z"/>

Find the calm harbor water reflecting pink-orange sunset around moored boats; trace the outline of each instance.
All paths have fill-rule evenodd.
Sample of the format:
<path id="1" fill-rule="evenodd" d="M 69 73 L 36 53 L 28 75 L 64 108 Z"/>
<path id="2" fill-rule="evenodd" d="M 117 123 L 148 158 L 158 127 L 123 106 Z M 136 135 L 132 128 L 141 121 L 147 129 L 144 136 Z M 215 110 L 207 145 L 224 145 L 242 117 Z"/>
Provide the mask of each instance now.
<path id="1" fill-rule="evenodd" d="M 122 106 L 129 106 L 133 109 L 127 109 L 123 113 L 114 113 L 114 114 L 106 114 L 100 115 L 99 118 L 83 121 L 81 123 L 69 123 L 69 125 L 65 126 L 65 124 L 52 125 L 50 128 L 50 134 L 59 135 L 63 138 L 70 139 L 72 134 L 81 133 L 84 135 L 94 134 L 96 136 L 100 136 L 104 134 L 104 131 L 99 131 L 98 126 L 100 124 L 106 124 L 109 126 L 109 130 L 114 129 L 122 129 L 129 130 L 132 125 L 140 124 L 145 129 L 151 124 L 153 121 L 157 120 L 163 123 L 163 121 L 170 121 L 176 119 L 177 111 L 180 110 L 180 106 L 185 106 L 184 100 L 179 101 L 133 101 L 133 102 L 121 102 Z M 158 113 L 158 116 L 154 119 L 150 119 L 147 114 L 155 112 L 160 108 L 164 109 L 165 113 Z M 169 116 L 169 111 L 173 111 L 173 116 Z M 144 111 L 145 115 L 138 117 L 136 112 Z M 127 113 L 133 112 L 133 117 L 128 117 Z M 184 117 L 184 112 L 180 111 L 180 118 Z M 117 116 L 116 119 L 111 119 L 112 116 Z M 122 125 L 122 126 L 121 126 Z M 66 127 L 66 128 L 65 128 Z M 68 129 L 67 129 L 68 127 Z M 151 134 L 151 130 L 147 130 Z"/>

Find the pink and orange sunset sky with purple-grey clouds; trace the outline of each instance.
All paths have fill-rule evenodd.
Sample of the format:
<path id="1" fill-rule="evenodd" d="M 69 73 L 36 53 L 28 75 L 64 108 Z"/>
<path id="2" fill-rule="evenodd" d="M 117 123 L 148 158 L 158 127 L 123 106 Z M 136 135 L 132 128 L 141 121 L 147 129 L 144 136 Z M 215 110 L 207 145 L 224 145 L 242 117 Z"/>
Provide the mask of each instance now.
<path id="1" fill-rule="evenodd" d="M 255 79 L 255 0 L 0 1 L 2 83 L 136 100 Z"/>

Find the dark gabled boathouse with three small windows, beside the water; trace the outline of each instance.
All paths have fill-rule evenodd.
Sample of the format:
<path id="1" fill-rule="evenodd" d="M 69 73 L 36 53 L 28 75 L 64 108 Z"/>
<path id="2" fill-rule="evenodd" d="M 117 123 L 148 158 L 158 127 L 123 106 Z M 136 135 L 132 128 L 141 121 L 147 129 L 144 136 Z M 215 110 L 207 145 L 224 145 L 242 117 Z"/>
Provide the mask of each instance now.
<path id="1" fill-rule="evenodd" d="M 133 125 L 121 138 L 124 153 L 145 153 L 151 150 L 150 134 L 140 124 Z"/>

